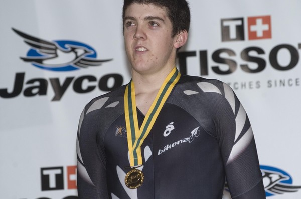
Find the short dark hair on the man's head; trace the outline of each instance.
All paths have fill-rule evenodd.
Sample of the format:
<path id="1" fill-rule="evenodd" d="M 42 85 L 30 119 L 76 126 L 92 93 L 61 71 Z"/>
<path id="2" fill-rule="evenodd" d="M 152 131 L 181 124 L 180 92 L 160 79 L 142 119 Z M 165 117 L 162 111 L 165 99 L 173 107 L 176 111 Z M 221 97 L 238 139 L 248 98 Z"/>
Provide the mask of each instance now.
<path id="1" fill-rule="evenodd" d="M 152 4 L 166 10 L 172 22 L 172 37 L 183 30 L 188 32 L 190 25 L 190 10 L 186 0 L 124 0 L 122 19 L 124 20 L 125 10 L 133 3 Z"/>

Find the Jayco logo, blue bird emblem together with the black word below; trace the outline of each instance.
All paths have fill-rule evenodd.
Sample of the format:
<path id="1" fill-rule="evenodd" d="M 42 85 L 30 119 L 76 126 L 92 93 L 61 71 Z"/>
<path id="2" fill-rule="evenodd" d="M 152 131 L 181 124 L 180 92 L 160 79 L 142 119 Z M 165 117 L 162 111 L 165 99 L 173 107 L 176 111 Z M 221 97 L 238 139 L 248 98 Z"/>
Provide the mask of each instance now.
<path id="1" fill-rule="evenodd" d="M 70 40 L 46 41 L 14 28 L 13 31 L 21 36 L 26 44 L 31 46 L 26 56 L 20 59 L 43 70 L 74 71 L 99 66 L 103 62 L 113 60 L 96 59 L 96 51 L 81 42 Z M 48 91 L 51 87 L 53 90 L 51 101 L 59 101 L 69 88 L 73 89 L 75 93 L 85 94 L 97 88 L 108 92 L 123 85 L 123 76 L 116 73 L 105 74 L 102 77 L 82 75 L 78 77 L 37 77 L 28 79 L 25 72 L 19 72 L 16 73 L 15 78 L 8 78 L 8 80 L 9 82 L 13 81 L 13 85 L 8 85 L 5 88 L 1 85 L 0 98 L 14 98 L 19 95 L 24 97 L 45 96 L 49 95 Z"/>

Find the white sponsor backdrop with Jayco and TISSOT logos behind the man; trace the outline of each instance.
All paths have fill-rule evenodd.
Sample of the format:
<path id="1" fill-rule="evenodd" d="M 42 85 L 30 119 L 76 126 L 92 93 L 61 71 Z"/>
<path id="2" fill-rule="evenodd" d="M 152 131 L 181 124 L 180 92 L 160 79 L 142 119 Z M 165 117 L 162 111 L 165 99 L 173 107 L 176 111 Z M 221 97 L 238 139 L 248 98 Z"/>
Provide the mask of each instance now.
<path id="1" fill-rule="evenodd" d="M 0 2 L 0 198 L 77 198 L 80 113 L 130 80 L 122 3 Z M 178 68 L 233 88 L 252 123 L 266 196 L 301 198 L 301 2 L 190 6 Z"/>

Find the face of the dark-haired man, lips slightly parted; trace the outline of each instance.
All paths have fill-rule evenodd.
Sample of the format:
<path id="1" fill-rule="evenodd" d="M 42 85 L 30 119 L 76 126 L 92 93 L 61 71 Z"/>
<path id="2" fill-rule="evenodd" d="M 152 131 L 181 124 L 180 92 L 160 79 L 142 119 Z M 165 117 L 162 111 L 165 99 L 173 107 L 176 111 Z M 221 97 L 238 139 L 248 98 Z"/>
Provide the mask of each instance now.
<path id="1" fill-rule="evenodd" d="M 133 72 L 149 74 L 175 66 L 177 36 L 165 9 L 131 4 L 124 16 L 125 50 Z"/>

